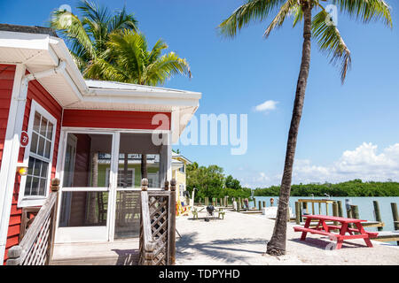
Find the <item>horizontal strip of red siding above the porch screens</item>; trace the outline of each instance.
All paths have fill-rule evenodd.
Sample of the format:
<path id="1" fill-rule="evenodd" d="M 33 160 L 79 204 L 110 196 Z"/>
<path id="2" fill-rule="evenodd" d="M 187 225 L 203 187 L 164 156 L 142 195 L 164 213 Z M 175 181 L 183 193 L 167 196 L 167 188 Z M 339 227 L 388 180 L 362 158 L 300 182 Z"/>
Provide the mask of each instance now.
<path id="1" fill-rule="evenodd" d="M 168 120 L 152 125 L 156 114 L 165 114 Z M 161 130 L 169 130 L 170 117 L 170 112 L 65 110 L 62 126 L 154 130 L 162 125 Z"/>

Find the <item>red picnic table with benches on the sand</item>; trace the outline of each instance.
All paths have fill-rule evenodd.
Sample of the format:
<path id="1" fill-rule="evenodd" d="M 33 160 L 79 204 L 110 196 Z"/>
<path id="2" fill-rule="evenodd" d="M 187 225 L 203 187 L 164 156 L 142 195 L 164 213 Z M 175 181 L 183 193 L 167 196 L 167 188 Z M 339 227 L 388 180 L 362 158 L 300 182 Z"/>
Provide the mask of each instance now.
<path id="1" fill-rule="evenodd" d="M 364 239 L 367 247 L 372 248 L 372 241 L 370 239 L 376 238 L 379 233 L 376 232 L 367 232 L 364 230 L 362 226 L 362 222 L 366 220 L 355 219 L 355 218 L 339 218 L 334 216 L 326 216 L 326 215 L 304 215 L 303 218 L 306 218 L 305 226 L 295 226 L 293 230 L 295 232 L 301 232 L 301 241 L 305 241 L 307 233 L 317 233 L 325 236 L 329 236 L 330 239 L 337 239 L 336 249 L 340 249 L 342 247 L 342 242 L 344 240 L 350 239 Z M 318 220 L 317 226 L 314 228 L 310 228 L 310 221 Z M 340 222 L 340 226 L 338 225 L 327 225 L 325 221 L 334 221 Z M 349 224 L 354 224 L 357 228 L 349 228 Z M 332 233 L 332 230 L 340 230 L 340 233 Z M 346 234 L 348 233 L 348 235 Z"/>

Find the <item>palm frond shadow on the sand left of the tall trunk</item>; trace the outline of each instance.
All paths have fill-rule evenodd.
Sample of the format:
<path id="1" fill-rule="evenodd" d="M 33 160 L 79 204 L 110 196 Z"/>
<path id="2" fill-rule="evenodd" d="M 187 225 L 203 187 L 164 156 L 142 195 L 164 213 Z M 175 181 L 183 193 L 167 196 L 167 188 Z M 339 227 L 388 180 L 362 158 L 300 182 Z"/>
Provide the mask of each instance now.
<path id="1" fill-rule="evenodd" d="M 215 240 L 207 242 L 196 242 L 198 233 L 185 233 L 176 241 L 176 254 L 182 257 L 194 257 L 201 254 L 213 259 L 222 260 L 226 264 L 237 263 L 237 256 L 231 252 L 240 252 L 239 260 L 247 263 L 247 259 L 251 256 L 249 254 L 258 254 L 262 256 L 264 251 L 256 251 L 251 249 L 235 248 L 240 244 L 264 244 L 266 247 L 267 241 L 263 239 L 251 238 L 230 238 L 224 240 Z M 193 251 L 192 251 L 193 249 Z M 265 248 L 266 249 L 266 248 Z"/>

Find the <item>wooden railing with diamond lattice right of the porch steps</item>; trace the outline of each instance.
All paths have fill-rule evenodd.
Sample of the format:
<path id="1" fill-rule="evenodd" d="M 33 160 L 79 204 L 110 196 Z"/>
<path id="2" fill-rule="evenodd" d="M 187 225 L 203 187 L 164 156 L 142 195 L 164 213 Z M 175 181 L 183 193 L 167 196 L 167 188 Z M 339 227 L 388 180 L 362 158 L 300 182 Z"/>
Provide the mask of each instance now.
<path id="1" fill-rule="evenodd" d="M 142 180 L 140 217 L 140 265 L 175 264 L 176 256 L 176 180 L 163 189 L 148 190 Z"/>

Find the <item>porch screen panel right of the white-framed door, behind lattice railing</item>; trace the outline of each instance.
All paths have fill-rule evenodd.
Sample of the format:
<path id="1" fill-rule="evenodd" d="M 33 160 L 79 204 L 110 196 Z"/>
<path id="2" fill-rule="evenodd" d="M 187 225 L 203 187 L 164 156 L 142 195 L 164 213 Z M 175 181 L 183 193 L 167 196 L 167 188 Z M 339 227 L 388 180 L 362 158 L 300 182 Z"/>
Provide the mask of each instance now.
<path id="1" fill-rule="evenodd" d="M 121 133 L 114 201 L 114 240 L 139 236 L 141 180 L 147 178 L 150 189 L 161 186 L 167 168 L 164 148 L 153 144 L 151 134 Z"/>

